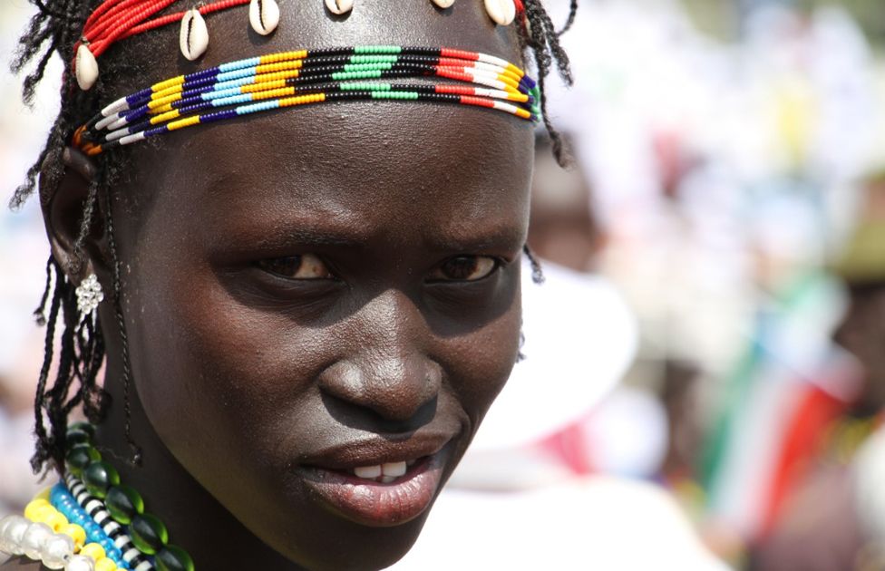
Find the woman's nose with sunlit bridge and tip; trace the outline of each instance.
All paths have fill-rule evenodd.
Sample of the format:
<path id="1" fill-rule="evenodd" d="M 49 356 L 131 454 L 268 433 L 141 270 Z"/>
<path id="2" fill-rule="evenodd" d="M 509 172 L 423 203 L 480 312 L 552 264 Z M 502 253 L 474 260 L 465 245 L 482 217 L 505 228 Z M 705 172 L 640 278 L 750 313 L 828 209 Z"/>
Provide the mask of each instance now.
<path id="1" fill-rule="evenodd" d="M 423 315 L 408 296 L 387 291 L 348 324 L 355 352 L 326 368 L 319 387 L 351 421 L 411 431 L 433 418 L 443 371 L 426 353 Z"/>

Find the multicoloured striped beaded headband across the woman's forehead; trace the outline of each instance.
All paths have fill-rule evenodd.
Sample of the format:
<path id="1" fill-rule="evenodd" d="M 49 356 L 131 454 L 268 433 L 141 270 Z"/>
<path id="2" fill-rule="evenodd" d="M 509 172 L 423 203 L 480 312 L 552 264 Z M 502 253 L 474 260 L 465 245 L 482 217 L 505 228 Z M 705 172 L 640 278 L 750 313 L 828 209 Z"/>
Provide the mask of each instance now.
<path id="1" fill-rule="evenodd" d="M 414 77 L 461 83 L 377 81 Z M 193 125 L 356 100 L 472 105 L 528 121 L 540 115 L 536 83 L 499 57 L 452 48 L 366 45 L 271 53 L 154 83 L 105 107 L 75 133 L 73 143 L 97 155 Z"/>

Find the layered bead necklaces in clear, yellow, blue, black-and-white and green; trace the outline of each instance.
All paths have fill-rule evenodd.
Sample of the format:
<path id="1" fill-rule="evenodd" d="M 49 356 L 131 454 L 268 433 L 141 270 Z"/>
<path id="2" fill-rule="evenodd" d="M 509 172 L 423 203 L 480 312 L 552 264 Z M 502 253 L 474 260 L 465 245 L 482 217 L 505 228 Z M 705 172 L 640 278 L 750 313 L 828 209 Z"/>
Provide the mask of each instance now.
<path id="1" fill-rule="evenodd" d="M 93 435 L 85 423 L 67 431 L 63 481 L 34 498 L 24 517 L 0 519 L 0 551 L 65 571 L 194 571 L 141 495 L 102 460 Z"/>

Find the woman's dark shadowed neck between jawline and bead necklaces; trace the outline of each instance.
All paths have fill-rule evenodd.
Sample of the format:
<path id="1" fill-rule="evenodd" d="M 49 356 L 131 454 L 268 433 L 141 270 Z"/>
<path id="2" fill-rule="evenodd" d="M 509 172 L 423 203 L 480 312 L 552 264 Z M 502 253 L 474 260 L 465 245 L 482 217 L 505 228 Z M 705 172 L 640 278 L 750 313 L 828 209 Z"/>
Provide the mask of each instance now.
<path id="1" fill-rule="evenodd" d="M 109 354 L 120 353 L 109 347 Z M 108 364 L 105 389 L 112 401 L 96 431 L 95 446 L 120 471 L 121 481 L 141 493 L 145 511 L 166 524 L 170 543 L 187 550 L 197 569 L 297 569 L 243 527 L 172 456 L 151 426 L 134 382 L 128 421 L 132 439 L 141 448 L 141 467 L 132 466 L 121 369 L 119 363 Z"/>

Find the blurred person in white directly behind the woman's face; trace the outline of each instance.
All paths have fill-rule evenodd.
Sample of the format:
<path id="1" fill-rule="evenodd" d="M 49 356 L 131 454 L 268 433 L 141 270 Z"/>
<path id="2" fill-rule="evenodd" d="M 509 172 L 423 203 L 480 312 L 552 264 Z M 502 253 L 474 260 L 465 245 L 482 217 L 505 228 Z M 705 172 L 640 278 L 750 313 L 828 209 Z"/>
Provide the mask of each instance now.
<path id="1" fill-rule="evenodd" d="M 642 479 L 666 449 L 666 415 L 618 386 L 636 319 L 596 270 L 605 238 L 585 173 L 558 171 L 548 152 L 540 141 L 529 241 L 545 281 L 523 275 L 525 359 L 394 569 L 448 569 L 465 556 L 471 568 L 723 569 L 669 494 Z M 457 553 L 443 548 L 452 536 Z"/>

